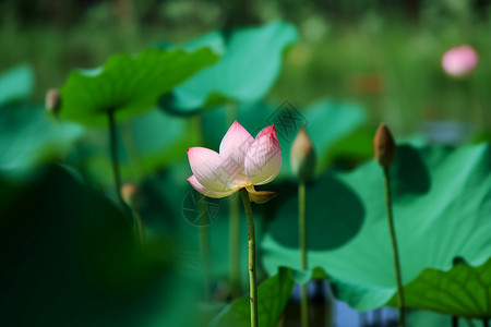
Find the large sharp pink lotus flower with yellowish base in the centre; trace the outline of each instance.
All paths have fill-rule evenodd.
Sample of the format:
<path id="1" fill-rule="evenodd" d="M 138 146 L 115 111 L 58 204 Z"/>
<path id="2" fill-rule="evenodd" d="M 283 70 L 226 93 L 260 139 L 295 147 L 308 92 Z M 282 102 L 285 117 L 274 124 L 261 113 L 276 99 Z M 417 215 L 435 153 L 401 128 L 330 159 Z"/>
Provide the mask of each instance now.
<path id="1" fill-rule="evenodd" d="M 191 147 L 188 158 L 193 171 L 188 181 L 206 196 L 225 197 L 242 187 L 256 203 L 264 203 L 275 195 L 254 190 L 254 185 L 274 180 L 282 168 L 275 125 L 263 129 L 253 138 L 236 121 L 221 140 L 219 154 L 204 147 Z"/>

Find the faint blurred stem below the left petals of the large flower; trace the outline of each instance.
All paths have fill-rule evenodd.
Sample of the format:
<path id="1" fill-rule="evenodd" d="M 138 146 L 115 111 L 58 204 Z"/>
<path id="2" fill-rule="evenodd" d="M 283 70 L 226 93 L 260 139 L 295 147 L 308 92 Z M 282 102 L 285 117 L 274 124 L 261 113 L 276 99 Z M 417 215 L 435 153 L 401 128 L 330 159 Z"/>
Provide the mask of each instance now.
<path id="1" fill-rule="evenodd" d="M 205 302 L 209 302 L 212 296 L 212 261 L 209 256 L 209 228 L 208 210 L 204 195 L 199 194 L 197 213 L 200 215 L 200 250 L 203 261 L 203 282 Z"/>

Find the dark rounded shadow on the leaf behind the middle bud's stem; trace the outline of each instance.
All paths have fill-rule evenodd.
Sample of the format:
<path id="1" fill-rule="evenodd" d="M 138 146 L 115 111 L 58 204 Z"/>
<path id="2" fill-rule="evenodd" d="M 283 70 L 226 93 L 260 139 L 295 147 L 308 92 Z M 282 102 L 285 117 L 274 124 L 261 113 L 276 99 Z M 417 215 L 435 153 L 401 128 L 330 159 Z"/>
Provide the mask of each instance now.
<path id="1" fill-rule="evenodd" d="M 282 245 L 297 249 L 298 198 L 297 185 L 277 185 L 278 195 L 270 234 Z M 278 193 L 282 194 L 282 193 Z M 308 247 L 314 251 L 333 250 L 352 239 L 364 219 L 364 208 L 355 192 L 336 178 L 324 174 L 307 186 Z"/>

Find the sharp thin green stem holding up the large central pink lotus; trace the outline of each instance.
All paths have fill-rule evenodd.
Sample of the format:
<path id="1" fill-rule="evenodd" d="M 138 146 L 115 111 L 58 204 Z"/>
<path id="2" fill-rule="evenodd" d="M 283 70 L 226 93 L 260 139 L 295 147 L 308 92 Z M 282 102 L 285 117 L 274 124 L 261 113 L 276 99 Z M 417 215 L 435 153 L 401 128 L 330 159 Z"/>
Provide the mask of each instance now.
<path id="1" fill-rule="evenodd" d="M 259 326 L 258 316 L 258 284 L 255 276 L 255 230 L 254 219 L 252 218 L 251 202 L 249 201 L 249 193 L 246 189 L 240 190 L 242 196 L 243 209 L 246 218 L 248 219 L 249 228 L 249 299 L 251 303 L 251 327 Z"/>

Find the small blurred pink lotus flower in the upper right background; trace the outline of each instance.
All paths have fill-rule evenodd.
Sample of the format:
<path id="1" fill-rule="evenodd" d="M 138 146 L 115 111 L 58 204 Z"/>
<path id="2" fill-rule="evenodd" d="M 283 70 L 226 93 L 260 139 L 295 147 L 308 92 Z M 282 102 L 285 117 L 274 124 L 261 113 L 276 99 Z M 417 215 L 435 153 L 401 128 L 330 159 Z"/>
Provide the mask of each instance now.
<path id="1" fill-rule="evenodd" d="M 479 61 L 478 52 L 469 45 L 453 47 L 442 57 L 442 66 L 452 77 L 464 77 L 470 74 Z"/>

